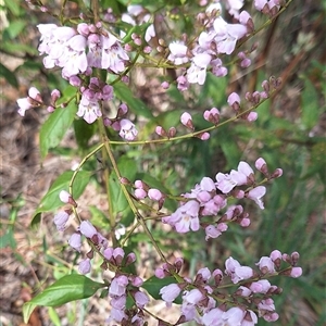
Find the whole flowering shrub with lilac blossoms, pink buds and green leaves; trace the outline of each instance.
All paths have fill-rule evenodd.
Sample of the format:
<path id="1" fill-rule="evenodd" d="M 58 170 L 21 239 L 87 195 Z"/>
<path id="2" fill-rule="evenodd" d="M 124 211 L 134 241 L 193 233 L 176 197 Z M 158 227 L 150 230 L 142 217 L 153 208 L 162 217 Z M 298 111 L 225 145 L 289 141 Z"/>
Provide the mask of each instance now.
<path id="1" fill-rule="evenodd" d="M 248 68 L 256 46 L 249 49 L 247 45 L 287 10 L 291 0 L 253 1 L 252 11 L 265 21 L 260 26 L 255 25 L 251 13 L 242 10 L 243 1 L 199 1 L 191 8 L 196 9 L 196 15 L 187 15 L 195 25 L 191 33 L 174 30 L 173 35 L 165 36 L 160 28 L 168 25 L 168 14 L 177 9 L 181 11 L 184 1 L 168 4 L 166 9 L 114 2 L 121 3 L 125 12 L 118 7 L 106 8 L 105 1 L 91 1 L 90 8 L 78 2 L 80 14 L 77 17 L 65 15 L 64 8 L 59 11 L 40 1 L 26 2 L 30 10 L 58 18 L 55 24 L 37 25 L 38 51 L 45 68 L 59 71 L 67 87 L 53 89 L 47 98 L 42 90 L 32 86 L 28 96 L 17 100 L 18 114 L 25 116 L 36 108 L 46 108 L 49 112 L 40 131 L 42 158 L 60 143 L 75 121 L 82 122 L 75 133 L 77 145 L 88 143 L 91 137 L 98 141 L 73 172 L 53 183 L 34 217 L 37 221 L 41 213 L 58 210 L 53 222 L 59 233 L 65 233 L 72 220 L 77 221 L 78 227 L 70 235 L 68 244 L 70 250 L 80 253 L 77 268 L 80 275 L 62 277 L 27 302 L 24 306 L 26 322 L 36 305 L 55 306 L 91 297 L 99 289 L 106 290 L 111 304 L 108 323 L 112 325 L 146 325 L 149 315 L 155 317 L 159 325 L 193 321 L 208 326 L 249 326 L 255 325 L 259 317 L 266 322 L 277 321 L 273 298 L 281 293 L 281 288 L 269 279 L 301 276 L 298 252 L 285 253 L 271 248 L 255 266 L 242 265 L 229 256 L 224 266 L 214 269 L 203 266 L 191 278 L 183 273 L 184 258 L 167 259 L 162 249 L 163 240 L 154 237 L 149 221 L 166 233 L 180 236 L 198 233 L 199 241 L 218 241 L 216 238 L 227 237 L 231 224 L 250 227 L 247 203 L 254 202 L 264 210 L 266 184 L 277 183 L 283 170 L 271 171 L 263 158 L 255 160 L 255 171 L 252 164 L 240 161 L 235 170 L 215 171 L 215 176 L 204 176 L 192 189 L 184 189 L 176 196 L 150 177 L 137 178 L 134 166 L 124 166 L 118 155 L 120 148 L 126 146 L 128 149 L 150 143 L 164 146 L 190 138 L 205 142 L 210 141 L 213 130 L 226 124 L 255 122 L 259 108 L 278 91 L 279 78 L 271 76 L 260 89 L 248 90 L 244 96 L 230 91 L 225 99 L 227 114 L 215 106 L 202 112 L 201 123 L 205 127 L 198 127 L 198 120 L 186 111 L 179 115 L 180 125 L 168 122 L 174 125 L 167 128 L 158 123 L 147 135 L 142 133 L 142 118 L 155 120 L 130 92 L 131 74 L 137 67 L 173 72 L 161 76 L 161 88 L 163 91 L 173 88 L 183 95 L 191 88 L 200 89 L 208 83 L 208 76 L 225 78 L 233 66 Z M 101 154 L 100 163 L 109 162 L 104 167 L 109 168 L 104 189 L 110 236 L 104 227 L 83 220 L 79 212 L 78 198 L 95 173 L 88 170 L 87 163 L 98 154 Z M 139 276 L 139 254 L 129 250 L 129 242 L 139 228 L 160 258 L 148 279 Z M 100 267 L 95 266 L 98 258 Z M 103 271 L 112 275 L 103 283 L 85 276 Z M 174 324 L 151 312 L 151 299 L 165 301 L 167 308 L 174 302 L 179 304 L 179 316 Z"/>

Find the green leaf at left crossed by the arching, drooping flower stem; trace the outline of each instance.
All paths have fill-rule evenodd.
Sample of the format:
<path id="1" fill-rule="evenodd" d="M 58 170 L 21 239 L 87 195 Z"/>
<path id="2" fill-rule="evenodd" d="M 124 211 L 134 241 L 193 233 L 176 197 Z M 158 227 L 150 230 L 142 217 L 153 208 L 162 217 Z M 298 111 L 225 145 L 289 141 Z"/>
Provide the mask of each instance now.
<path id="1" fill-rule="evenodd" d="M 66 171 L 62 175 L 60 175 L 55 181 L 52 184 L 48 192 L 42 198 L 39 203 L 36 212 L 34 213 L 32 225 L 36 225 L 40 221 L 40 213 L 53 211 L 60 206 L 62 206 L 62 202 L 59 199 L 59 193 L 61 190 L 68 190 L 70 181 L 73 177 L 73 171 Z M 91 172 L 88 171 L 79 171 L 74 185 L 73 185 L 73 197 L 77 199 L 86 188 L 89 183 L 89 178 L 91 176 Z"/>

